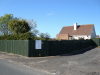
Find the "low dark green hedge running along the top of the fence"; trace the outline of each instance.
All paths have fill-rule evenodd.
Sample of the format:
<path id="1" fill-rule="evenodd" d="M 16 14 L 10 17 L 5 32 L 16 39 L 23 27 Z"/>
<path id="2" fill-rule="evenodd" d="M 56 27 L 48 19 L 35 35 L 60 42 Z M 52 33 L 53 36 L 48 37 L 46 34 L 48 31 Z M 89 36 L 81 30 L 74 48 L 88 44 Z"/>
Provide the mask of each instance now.
<path id="1" fill-rule="evenodd" d="M 50 38 L 34 36 L 31 33 L 19 33 L 0 36 L 0 40 L 50 40 Z"/>

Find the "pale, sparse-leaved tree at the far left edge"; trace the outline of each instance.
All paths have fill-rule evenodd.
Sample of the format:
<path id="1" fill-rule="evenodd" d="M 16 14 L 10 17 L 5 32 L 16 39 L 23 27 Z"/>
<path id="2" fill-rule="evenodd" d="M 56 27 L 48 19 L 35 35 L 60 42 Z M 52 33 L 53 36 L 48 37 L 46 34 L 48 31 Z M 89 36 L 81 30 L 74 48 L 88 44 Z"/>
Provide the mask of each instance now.
<path id="1" fill-rule="evenodd" d="M 13 18 L 13 14 L 5 14 L 4 16 L 0 17 L 0 31 L 2 34 L 7 35 L 11 33 L 8 29 L 8 23 L 11 21 Z"/>

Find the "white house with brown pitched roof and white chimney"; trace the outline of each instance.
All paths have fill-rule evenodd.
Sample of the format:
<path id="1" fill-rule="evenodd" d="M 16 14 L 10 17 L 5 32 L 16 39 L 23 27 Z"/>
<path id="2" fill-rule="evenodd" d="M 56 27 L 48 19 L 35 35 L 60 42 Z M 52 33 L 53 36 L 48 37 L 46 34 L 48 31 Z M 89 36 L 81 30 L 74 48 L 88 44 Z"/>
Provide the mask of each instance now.
<path id="1" fill-rule="evenodd" d="M 74 23 L 73 26 L 63 27 L 60 33 L 56 36 L 56 39 L 58 40 L 79 40 L 91 38 L 96 38 L 94 24 L 77 25 L 77 23 Z"/>

